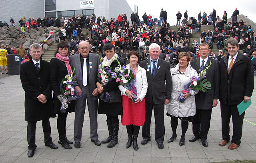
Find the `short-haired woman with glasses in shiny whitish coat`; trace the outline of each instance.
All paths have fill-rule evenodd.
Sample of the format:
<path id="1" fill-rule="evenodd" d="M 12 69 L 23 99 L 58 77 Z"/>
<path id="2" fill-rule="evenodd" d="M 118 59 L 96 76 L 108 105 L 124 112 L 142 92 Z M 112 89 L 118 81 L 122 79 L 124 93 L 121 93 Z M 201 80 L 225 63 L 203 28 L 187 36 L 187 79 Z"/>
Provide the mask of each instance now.
<path id="1" fill-rule="evenodd" d="M 185 101 L 181 103 L 178 97 L 184 90 L 184 85 L 188 84 L 192 76 L 198 75 L 190 64 L 190 55 L 186 52 L 180 53 L 179 64 L 171 69 L 172 75 L 172 95 L 170 102 L 167 104 L 167 116 L 171 117 L 172 137 L 168 140 L 168 143 L 176 139 L 176 129 L 178 126 L 178 118 L 181 119 L 182 135 L 180 138 L 180 146 L 185 143 L 185 133 L 188 129 L 188 121 L 192 121 L 192 116 L 196 113 L 196 103 L 194 95 L 198 93 L 198 90 L 190 90 L 190 92 L 184 93 Z"/>

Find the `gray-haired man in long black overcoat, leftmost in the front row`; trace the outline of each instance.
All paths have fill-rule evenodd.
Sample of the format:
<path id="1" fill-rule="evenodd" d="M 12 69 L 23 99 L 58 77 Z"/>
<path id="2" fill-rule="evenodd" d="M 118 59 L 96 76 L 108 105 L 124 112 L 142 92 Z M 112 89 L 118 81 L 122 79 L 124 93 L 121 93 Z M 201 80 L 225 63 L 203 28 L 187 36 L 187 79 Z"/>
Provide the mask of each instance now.
<path id="1" fill-rule="evenodd" d="M 53 113 L 52 87 L 50 85 L 50 63 L 41 59 L 42 47 L 34 43 L 30 46 L 32 60 L 20 65 L 20 80 L 25 91 L 25 120 L 28 121 L 28 157 L 33 157 L 36 149 L 36 122 L 42 120 L 44 144 L 52 149 L 50 117 Z"/>

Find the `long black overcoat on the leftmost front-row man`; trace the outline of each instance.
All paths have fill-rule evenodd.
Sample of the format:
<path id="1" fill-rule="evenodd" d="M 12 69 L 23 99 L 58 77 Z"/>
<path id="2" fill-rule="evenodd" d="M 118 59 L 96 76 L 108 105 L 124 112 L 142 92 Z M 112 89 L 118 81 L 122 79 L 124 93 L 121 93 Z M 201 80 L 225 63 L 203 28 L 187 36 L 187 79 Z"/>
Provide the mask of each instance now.
<path id="1" fill-rule="evenodd" d="M 40 121 L 56 117 L 53 112 L 52 87 L 49 76 L 50 63 L 41 59 L 39 72 L 32 60 L 20 65 L 20 80 L 25 91 L 25 120 Z M 43 94 L 47 102 L 42 104 L 37 97 Z"/>

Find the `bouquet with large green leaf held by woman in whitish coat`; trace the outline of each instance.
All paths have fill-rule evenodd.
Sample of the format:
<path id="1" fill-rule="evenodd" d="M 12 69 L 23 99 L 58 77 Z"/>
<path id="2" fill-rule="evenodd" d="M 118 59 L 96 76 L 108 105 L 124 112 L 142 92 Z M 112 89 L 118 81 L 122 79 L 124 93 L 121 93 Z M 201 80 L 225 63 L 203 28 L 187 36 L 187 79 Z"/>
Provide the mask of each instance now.
<path id="1" fill-rule="evenodd" d="M 178 101 L 180 101 L 181 103 L 183 103 L 185 101 L 185 96 L 182 97 L 182 95 L 184 95 L 185 93 L 188 93 L 191 91 L 191 89 L 193 90 L 200 90 L 203 92 L 208 92 L 208 89 L 211 89 L 211 83 L 209 81 L 207 81 L 206 78 L 206 70 L 209 69 L 209 67 L 211 66 L 212 62 L 210 62 L 210 65 L 207 66 L 204 70 L 200 70 L 200 73 L 196 76 L 192 76 L 190 82 L 188 82 L 188 84 L 184 85 L 184 90 L 182 90 L 181 94 L 178 97 Z"/>

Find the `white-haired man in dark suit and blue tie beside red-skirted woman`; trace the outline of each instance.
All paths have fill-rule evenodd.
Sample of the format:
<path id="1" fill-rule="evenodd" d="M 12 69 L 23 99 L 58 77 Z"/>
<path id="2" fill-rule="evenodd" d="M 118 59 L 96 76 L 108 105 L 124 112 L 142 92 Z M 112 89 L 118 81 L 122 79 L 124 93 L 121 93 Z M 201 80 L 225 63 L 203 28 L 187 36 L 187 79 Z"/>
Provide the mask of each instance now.
<path id="1" fill-rule="evenodd" d="M 142 127 L 142 145 L 150 141 L 150 123 L 152 110 L 154 107 L 154 116 L 156 122 L 156 142 L 158 148 L 164 148 L 164 104 L 169 103 L 172 92 L 172 77 L 170 64 L 161 58 L 160 46 L 152 43 L 149 46 L 150 58 L 140 62 L 140 66 L 146 70 L 148 80 L 148 90 L 145 96 L 146 117 Z"/>

